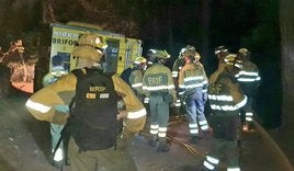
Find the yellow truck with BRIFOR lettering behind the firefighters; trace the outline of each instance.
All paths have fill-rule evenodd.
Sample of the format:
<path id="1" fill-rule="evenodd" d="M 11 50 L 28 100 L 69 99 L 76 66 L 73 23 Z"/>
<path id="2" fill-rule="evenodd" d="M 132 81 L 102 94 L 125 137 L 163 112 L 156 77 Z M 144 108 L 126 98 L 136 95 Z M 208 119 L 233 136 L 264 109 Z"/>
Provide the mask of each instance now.
<path id="1" fill-rule="evenodd" d="M 61 56 L 63 66 L 66 72 L 75 69 L 76 57 L 70 53 L 77 45 L 80 35 L 87 32 L 94 32 L 104 36 L 108 43 L 105 50 L 104 70 L 121 73 L 125 68 L 132 66 L 133 59 L 142 55 L 142 41 L 129 38 L 123 34 L 103 31 L 100 26 L 81 23 L 68 22 L 67 24 L 52 23 L 52 46 L 50 46 L 50 65 L 52 58 L 56 55 Z"/>

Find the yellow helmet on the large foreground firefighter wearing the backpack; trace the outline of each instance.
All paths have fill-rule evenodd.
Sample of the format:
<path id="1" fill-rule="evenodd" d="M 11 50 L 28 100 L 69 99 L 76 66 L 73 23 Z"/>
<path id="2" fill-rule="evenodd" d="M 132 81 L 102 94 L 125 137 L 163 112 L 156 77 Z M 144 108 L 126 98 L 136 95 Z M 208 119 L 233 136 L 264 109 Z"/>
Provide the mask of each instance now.
<path id="1" fill-rule="evenodd" d="M 106 41 L 94 33 L 86 33 L 78 39 L 78 46 L 75 47 L 71 54 L 76 57 L 90 59 L 93 61 L 100 61 L 104 55 Z"/>

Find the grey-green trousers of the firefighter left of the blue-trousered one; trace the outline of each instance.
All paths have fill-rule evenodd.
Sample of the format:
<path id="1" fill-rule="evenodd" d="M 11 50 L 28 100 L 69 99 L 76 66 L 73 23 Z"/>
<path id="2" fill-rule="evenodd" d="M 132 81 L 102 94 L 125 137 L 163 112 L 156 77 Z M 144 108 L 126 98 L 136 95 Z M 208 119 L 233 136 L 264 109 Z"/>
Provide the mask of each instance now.
<path id="1" fill-rule="evenodd" d="M 150 114 L 151 114 L 151 125 L 158 125 L 159 126 L 159 134 L 160 128 L 167 128 L 168 122 L 169 122 L 169 103 L 170 100 L 166 98 L 168 93 L 158 93 L 158 94 L 150 94 L 149 96 L 149 107 L 150 107 Z M 162 132 L 161 134 L 166 134 Z M 166 140 L 166 136 L 159 136 L 159 140 Z"/>

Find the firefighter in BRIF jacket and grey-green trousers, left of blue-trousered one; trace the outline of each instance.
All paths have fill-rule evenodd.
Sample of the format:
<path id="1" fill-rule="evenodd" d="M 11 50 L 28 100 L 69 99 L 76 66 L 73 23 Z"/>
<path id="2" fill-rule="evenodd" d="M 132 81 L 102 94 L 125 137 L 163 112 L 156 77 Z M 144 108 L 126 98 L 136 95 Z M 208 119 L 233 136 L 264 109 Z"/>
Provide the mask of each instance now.
<path id="1" fill-rule="evenodd" d="M 170 150 L 167 142 L 169 105 L 176 100 L 171 70 L 165 66 L 168 58 L 166 50 L 156 49 L 152 54 L 152 66 L 145 71 L 143 77 L 143 90 L 149 98 L 150 109 L 151 138 L 148 144 L 158 152 Z"/>

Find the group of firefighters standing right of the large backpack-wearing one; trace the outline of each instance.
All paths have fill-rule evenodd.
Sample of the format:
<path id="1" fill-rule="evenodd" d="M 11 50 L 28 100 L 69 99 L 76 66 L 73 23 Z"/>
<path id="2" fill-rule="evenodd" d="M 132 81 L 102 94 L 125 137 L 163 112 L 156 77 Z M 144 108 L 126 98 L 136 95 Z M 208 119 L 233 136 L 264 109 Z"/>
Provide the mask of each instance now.
<path id="1" fill-rule="evenodd" d="M 137 96 L 149 103 L 151 138 L 148 145 L 157 151 L 170 150 L 167 141 L 169 107 L 170 104 L 181 106 L 192 144 L 201 139 L 200 132 L 202 136 L 214 137 L 203 170 L 216 170 L 224 160 L 227 171 L 239 171 L 237 140 L 241 130 L 252 129 L 252 101 L 260 76 L 247 48 L 231 54 L 225 46 L 218 46 L 215 55 L 218 68 L 208 79 L 194 46 L 186 45 L 180 50 L 172 70 L 165 66 L 170 57 L 166 50 L 149 49 L 147 59 L 134 59 L 128 81 Z M 208 121 L 204 114 L 207 100 Z"/>

